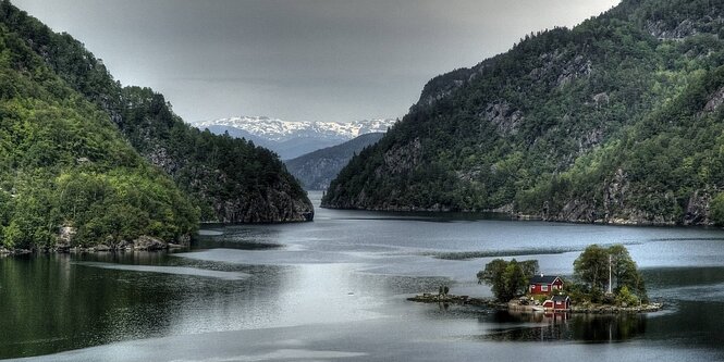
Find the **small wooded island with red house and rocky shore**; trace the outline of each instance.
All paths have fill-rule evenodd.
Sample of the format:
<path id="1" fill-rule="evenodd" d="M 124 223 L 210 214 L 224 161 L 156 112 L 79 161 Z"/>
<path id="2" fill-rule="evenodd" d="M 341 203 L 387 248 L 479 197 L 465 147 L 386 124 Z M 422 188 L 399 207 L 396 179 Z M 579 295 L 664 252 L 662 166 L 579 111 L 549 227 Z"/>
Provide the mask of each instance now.
<path id="1" fill-rule="evenodd" d="M 494 299 L 439 292 L 412 298 L 417 302 L 456 303 L 554 313 L 646 313 L 663 303 L 651 302 L 636 262 L 623 245 L 591 245 L 574 262 L 573 280 L 540 273 L 537 260 L 495 259 L 477 274 L 479 284 L 491 286 Z"/>

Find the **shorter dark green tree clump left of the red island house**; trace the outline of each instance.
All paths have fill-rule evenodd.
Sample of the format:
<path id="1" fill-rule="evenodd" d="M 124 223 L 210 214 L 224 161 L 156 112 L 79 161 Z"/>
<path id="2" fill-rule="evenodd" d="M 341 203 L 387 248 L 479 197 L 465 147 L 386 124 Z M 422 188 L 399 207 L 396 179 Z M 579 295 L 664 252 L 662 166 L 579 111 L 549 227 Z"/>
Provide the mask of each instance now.
<path id="1" fill-rule="evenodd" d="M 526 260 L 510 262 L 495 259 L 486 264 L 486 269 L 478 272 L 478 283 L 491 286 L 495 299 L 508 301 L 523 296 L 528 290 L 530 276 L 538 274 L 538 261 Z"/>

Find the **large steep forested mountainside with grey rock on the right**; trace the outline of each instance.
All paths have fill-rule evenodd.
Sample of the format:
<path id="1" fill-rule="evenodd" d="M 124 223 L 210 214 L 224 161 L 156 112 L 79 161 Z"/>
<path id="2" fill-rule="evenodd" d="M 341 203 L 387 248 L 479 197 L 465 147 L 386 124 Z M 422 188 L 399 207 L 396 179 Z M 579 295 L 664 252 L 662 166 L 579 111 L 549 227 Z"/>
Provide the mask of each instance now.
<path id="1" fill-rule="evenodd" d="M 438 76 L 323 207 L 724 223 L 724 3 L 624 0 Z"/>

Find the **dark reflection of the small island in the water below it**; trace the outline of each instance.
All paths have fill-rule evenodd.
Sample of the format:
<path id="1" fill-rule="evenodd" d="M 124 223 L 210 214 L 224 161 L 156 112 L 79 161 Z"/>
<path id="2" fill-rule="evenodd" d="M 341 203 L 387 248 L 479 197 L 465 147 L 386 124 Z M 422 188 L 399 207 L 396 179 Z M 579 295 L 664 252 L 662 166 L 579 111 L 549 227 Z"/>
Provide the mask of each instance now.
<path id="1" fill-rule="evenodd" d="M 484 336 L 495 341 L 621 342 L 643 335 L 647 328 L 647 317 L 641 314 L 499 311 L 482 322 L 495 324 Z"/>

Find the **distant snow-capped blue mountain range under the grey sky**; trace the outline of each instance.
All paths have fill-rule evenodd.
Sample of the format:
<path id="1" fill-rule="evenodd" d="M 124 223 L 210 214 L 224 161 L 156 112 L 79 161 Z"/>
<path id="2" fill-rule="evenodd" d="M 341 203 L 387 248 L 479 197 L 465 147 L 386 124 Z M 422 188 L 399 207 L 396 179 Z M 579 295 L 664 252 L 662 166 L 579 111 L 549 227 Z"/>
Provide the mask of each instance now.
<path id="1" fill-rule="evenodd" d="M 277 152 L 282 160 L 291 160 L 360 135 L 384 133 L 395 122 L 391 118 L 348 123 L 289 122 L 266 116 L 238 116 L 195 122 L 192 125 L 219 135 L 229 133 L 232 137 L 246 138 Z"/>

